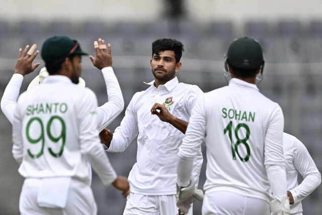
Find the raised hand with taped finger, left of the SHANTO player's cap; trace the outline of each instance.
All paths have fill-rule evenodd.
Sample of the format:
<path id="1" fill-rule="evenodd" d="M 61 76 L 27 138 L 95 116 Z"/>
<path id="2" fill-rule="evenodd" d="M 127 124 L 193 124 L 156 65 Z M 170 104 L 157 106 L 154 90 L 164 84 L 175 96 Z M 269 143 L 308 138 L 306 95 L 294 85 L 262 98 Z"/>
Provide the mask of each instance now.
<path id="1" fill-rule="evenodd" d="M 15 67 L 15 73 L 25 76 L 31 73 L 40 65 L 40 62 L 32 64 L 33 60 L 36 58 L 37 54 L 39 53 L 38 50 L 34 52 L 34 49 L 36 49 L 36 47 L 37 45 L 34 44 L 29 50 L 29 45 L 27 45 L 23 52 L 21 48 L 19 49 L 18 59 Z"/>

